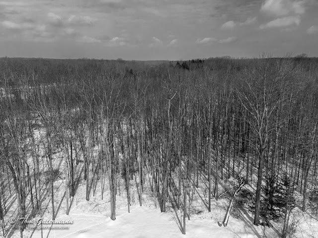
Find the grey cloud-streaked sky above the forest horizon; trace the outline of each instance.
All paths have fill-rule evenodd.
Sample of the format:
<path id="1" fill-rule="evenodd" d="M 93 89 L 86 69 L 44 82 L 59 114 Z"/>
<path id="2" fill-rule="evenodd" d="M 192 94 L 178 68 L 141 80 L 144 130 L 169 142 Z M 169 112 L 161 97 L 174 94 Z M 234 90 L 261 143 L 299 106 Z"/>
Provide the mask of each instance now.
<path id="1" fill-rule="evenodd" d="M 0 57 L 318 56 L 318 0 L 0 0 Z"/>

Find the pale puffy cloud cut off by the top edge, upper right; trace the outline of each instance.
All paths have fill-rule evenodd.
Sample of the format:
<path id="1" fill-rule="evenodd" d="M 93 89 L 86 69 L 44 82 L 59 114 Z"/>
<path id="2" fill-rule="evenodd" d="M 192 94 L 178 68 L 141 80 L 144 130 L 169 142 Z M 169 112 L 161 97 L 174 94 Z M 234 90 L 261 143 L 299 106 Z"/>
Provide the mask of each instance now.
<path id="1" fill-rule="evenodd" d="M 269 15 L 285 16 L 289 14 L 304 14 L 307 0 L 265 0 L 261 12 Z"/>

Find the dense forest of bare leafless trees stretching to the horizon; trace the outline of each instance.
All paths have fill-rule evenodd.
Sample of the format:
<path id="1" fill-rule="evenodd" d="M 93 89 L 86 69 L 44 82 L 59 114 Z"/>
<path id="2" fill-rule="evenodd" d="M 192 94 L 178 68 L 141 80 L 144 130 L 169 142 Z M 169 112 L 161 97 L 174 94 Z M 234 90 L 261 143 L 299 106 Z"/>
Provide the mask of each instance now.
<path id="1" fill-rule="evenodd" d="M 317 58 L 1 58 L 0 90 L 3 237 L 31 237 L 19 218 L 55 220 L 97 196 L 114 222 L 120 199 L 173 211 L 183 235 L 216 204 L 222 229 L 239 210 L 262 237 L 300 237 L 296 210 L 315 229 Z"/>

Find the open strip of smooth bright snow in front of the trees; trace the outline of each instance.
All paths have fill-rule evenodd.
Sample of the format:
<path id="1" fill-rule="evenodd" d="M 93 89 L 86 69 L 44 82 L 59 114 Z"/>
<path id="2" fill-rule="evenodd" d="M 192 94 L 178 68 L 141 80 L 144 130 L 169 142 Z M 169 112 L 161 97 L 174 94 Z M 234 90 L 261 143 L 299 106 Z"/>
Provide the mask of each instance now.
<path id="1" fill-rule="evenodd" d="M 118 209 L 116 220 L 112 221 L 105 215 L 86 213 L 72 213 L 63 215 L 57 220 L 74 220 L 69 224 L 68 230 L 51 230 L 48 234 L 43 231 L 43 236 L 50 238 L 259 238 L 258 231 L 252 225 L 238 219 L 231 220 L 231 226 L 219 227 L 212 219 L 187 220 L 186 235 L 182 235 L 177 223 L 170 212 L 161 213 L 158 209 L 147 206 Z M 212 214 L 212 212 L 210 213 Z M 41 237 L 41 232 L 36 230 L 34 238 Z"/>

